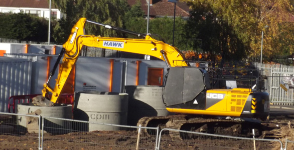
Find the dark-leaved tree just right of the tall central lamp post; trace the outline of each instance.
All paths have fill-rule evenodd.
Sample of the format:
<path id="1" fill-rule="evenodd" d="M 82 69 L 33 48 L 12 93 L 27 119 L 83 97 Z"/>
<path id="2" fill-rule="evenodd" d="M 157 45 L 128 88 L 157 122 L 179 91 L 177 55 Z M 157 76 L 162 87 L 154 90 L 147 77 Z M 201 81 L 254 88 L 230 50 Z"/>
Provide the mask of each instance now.
<path id="1" fill-rule="evenodd" d="M 240 59 L 245 56 L 248 45 L 226 19 L 214 12 L 212 4 L 200 0 L 188 1 L 192 11 L 188 22 L 188 38 L 201 39 L 202 49 L 220 53 L 223 59 Z"/>

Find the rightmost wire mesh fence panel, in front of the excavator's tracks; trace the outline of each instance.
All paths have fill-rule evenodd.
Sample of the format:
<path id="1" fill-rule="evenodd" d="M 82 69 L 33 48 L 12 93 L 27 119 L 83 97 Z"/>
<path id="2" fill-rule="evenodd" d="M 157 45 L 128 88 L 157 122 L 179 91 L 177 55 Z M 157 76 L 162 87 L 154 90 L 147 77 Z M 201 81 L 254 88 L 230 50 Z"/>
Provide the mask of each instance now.
<path id="1" fill-rule="evenodd" d="M 181 138 L 170 138 L 163 133 L 180 132 Z M 282 149 L 277 139 L 245 138 L 164 128 L 160 132 L 158 149 Z"/>

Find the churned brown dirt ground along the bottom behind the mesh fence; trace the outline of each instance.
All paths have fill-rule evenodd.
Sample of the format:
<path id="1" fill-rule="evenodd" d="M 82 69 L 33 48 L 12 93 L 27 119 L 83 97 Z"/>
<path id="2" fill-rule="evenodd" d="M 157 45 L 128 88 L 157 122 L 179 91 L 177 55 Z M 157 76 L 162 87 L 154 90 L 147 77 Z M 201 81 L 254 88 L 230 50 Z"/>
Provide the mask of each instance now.
<path id="1" fill-rule="evenodd" d="M 259 137 L 267 139 L 284 139 L 294 141 L 293 120 L 294 115 L 273 115 L 269 121 L 262 122 L 264 130 Z M 234 126 L 238 128 L 238 126 Z M 236 130 L 236 129 L 235 129 Z M 233 129 L 215 128 L 219 134 L 232 135 Z M 234 136 L 243 136 L 234 133 Z M 164 134 L 160 149 L 238 149 L 241 143 L 236 140 L 221 140 L 207 136 L 197 136 L 187 139 L 174 139 L 169 134 Z M 94 131 L 70 132 L 61 135 L 44 134 L 44 149 L 136 149 L 137 131 Z M 139 149 L 154 149 L 155 135 L 142 134 Z M 217 143 L 212 147 L 210 143 Z M 256 149 L 279 149 L 277 143 L 258 142 Z M 38 135 L 26 133 L 23 135 L 0 134 L 0 149 L 38 149 Z M 248 148 L 253 149 L 253 147 Z M 293 144 L 288 144 L 287 149 L 294 149 Z"/>

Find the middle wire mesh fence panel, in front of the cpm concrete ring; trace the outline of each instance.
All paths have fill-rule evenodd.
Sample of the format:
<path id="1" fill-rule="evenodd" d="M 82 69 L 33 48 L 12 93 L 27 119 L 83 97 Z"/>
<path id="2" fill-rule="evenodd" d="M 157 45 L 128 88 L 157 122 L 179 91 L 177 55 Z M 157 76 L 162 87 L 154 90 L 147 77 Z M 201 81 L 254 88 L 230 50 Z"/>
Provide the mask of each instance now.
<path id="1" fill-rule="evenodd" d="M 43 149 L 136 149 L 137 144 L 138 149 L 155 149 L 156 147 L 158 137 L 156 127 L 116 125 L 48 116 L 43 116 L 43 118 Z M 50 119 L 51 122 L 46 122 L 45 119 Z M 72 124 L 72 127 L 52 123 L 55 121 Z M 97 130 L 88 131 L 89 125 L 92 128 L 96 125 Z M 99 128 L 111 129 L 100 130 Z M 142 129 L 139 137 L 138 128 Z M 153 134 L 146 134 L 143 129 L 148 129 Z"/>

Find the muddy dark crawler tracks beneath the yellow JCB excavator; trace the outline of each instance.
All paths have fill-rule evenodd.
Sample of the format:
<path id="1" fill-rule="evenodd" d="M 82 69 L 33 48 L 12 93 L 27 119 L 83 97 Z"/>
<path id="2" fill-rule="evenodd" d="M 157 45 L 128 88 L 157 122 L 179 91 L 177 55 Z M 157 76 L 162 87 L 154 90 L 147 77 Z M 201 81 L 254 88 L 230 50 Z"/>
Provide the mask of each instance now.
<path id="1" fill-rule="evenodd" d="M 252 129 L 258 131 L 256 136 L 262 130 L 262 124 L 258 121 L 240 120 L 240 119 L 219 119 L 193 117 L 188 119 L 187 115 L 169 115 L 169 116 L 151 116 L 142 117 L 137 125 L 145 127 L 173 128 L 178 130 L 195 131 L 211 134 L 223 134 L 231 136 L 250 137 Z M 259 131 L 260 130 L 260 131 Z M 155 134 L 150 129 L 143 129 L 144 133 Z M 169 130 L 166 132 L 176 139 L 197 138 L 197 134 Z M 230 134 L 227 134 L 230 133 Z"/>

